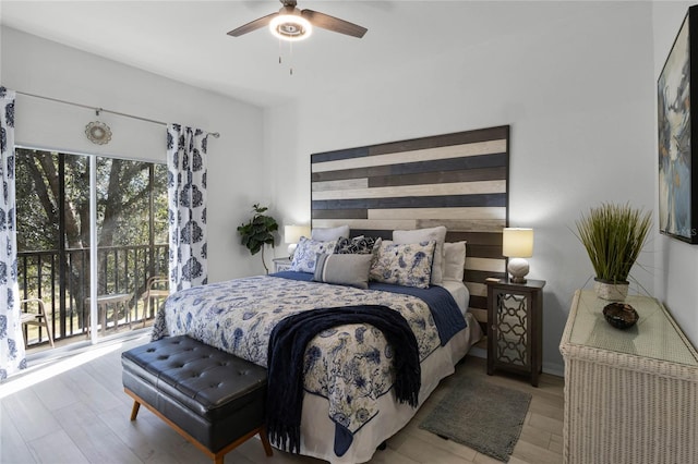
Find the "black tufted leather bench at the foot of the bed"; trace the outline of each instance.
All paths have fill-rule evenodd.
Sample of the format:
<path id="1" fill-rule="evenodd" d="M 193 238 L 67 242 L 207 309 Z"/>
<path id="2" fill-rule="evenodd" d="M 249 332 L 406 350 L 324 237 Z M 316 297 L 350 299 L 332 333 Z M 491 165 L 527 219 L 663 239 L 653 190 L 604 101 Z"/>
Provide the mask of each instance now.
<path id="1" fill-rule="evenodd" d="M 222 464 L 224 455 L 264 428 L 266 369 L 189 337 L 171 337 L 121 354 L 123 388 L 135 402 Z"/>

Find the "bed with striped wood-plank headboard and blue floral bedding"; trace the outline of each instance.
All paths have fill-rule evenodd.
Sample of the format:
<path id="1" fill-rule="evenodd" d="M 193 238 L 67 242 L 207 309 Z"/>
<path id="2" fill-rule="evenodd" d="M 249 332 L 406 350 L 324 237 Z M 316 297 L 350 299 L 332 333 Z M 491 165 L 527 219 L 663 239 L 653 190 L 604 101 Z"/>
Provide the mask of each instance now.
<path id="1" fill-rule="evenodd" d="M 320 248 L 299 244 L 296 276 L 258 276 L 171 295 L 158 313 L 154 337 L 186 333 L 265 366 L 268 338 L 282 315 L 356 304 L 387 307 L 399 312 L 416 333 L 421 406 L 481 339 L 485 279 L 505 276 L 501 234 L 508 223 L 508 137 L 509 127 L 500 126 L 311 155 L 311 218 L 313 235 L 318 235 L 308 240 Z M 433 229 L 440 230 L 438 240 L 422 235 Z M 434 251 L 429 265 L 442 270 L 442 279 L 411 272 L 411 281 L 402 276 L 375 282 L 376 276 L 385 280 L 380 277 L 383 265 L 374 272 L 383 255 L 372 255 L 366 289 L 346 272 L 321 272 L 315 279 L 317 269 L 305 267 L 302 256 L 313 260 L 330 255 L 330 262 L 340 261 L 340 253 L 328 252 L 338 251 L 332 242 L 339 237 L 381 239 L 378 255 L 381 247 L 433 241 L 436 248 L 442 242 L 442 252 Z M 453 249 L 462 248 L 467 253 L 458 253 L 459 259 L 449 259 Z M 374 243 L 371 252 L 375 249 Z M 418 256 L 419 251 L 408 261 Z M 442 266 L 434 262 L 437 256 Z M 384 271 L 386 267 L 390 265 Z M 441 289 L 435 292 L 450 300 L 452 310 L 455 304 L 466 327 L 442 333 L 424 295 L 396 293 L 389 285 Z M 312 354 L 317 351 L 333 354 Z M 311 341 L 304 353 L 304 368 L 312 368 L 303 380 L 301 454 L 333 463 L 366 462 L 414 416 L 418 407 L 396 401 L 390 388 L 388 353 L 383 334 L 362 323 L 336 327 Z"/>

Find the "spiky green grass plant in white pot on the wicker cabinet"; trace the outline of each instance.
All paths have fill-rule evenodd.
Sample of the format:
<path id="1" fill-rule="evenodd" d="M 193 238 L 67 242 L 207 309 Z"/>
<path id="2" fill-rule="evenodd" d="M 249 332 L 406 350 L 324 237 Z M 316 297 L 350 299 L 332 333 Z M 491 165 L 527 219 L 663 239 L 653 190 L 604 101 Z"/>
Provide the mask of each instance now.
<path id="1" fill-rule="evenodd" d="M 628 276 L 647 241 L 650 212 L 626 205 L 604 203 L 581 215 L 577 237 L 581 241 L 595 271 L 597 294 L 623 301 L 628 293 Z"/>

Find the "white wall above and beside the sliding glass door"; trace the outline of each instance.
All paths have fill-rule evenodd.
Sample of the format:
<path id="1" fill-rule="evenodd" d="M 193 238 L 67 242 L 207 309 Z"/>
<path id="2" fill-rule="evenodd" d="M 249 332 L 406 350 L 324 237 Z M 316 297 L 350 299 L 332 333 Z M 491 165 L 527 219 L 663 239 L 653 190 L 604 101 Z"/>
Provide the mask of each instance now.
<path id="1" fill-rule="evenodd" d="M 0 82 L 29 94 L 101 107 L 156 121 L 179 122 L 210 132 L 208 137 L 209 281 L 262 273 L 257 256 L 239 245 L 236 228 L 251 216 L 252 204 L 269 200 L 264 188 L 262 110 L 220 95 L 2 28 Z M 173 63 L 174 65 L 174 63 Z M 113 132 L 108 145 L 84 135 L 89 121 Z M 104 154 L 165 162 L 163 125 L 17 96 L 19 145 L 81 154 Z"/>

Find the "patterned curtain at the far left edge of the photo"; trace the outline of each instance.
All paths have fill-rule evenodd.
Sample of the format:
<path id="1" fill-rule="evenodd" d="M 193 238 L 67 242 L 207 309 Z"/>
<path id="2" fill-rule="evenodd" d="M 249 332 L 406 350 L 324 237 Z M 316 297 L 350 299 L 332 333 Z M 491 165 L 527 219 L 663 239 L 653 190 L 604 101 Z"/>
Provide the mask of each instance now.
<path id="1" fill-rule="evenodd" d="M 26 367 L 14 215 L 14 90 L 0 87 L 0 379 Z"/>

